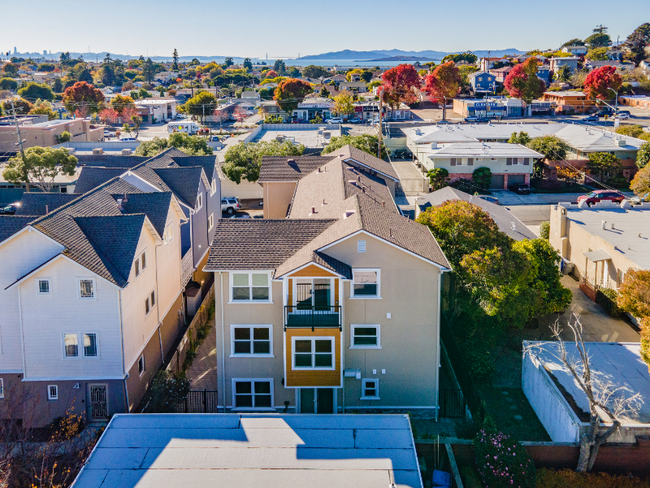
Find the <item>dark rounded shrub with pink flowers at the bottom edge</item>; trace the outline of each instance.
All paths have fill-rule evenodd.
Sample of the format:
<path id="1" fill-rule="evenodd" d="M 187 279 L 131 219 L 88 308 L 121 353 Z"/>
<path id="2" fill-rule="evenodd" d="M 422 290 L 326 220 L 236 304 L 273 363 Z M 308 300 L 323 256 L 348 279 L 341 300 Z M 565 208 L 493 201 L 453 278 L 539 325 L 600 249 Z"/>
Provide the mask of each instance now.
<path id="1" fill-rule="evenodd" d="M 502 433 L 480 430 L 474 439 L 474 452 L 486 488 L 535 486 L 535 465 L 516 440 Z"/>

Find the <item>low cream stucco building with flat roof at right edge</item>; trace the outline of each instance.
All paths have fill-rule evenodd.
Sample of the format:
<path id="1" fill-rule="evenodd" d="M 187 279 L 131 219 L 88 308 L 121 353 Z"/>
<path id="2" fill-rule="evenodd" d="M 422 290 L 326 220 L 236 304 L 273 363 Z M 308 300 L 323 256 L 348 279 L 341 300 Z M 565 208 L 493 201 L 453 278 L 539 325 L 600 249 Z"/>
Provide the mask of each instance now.
<path id="1" fill-rule="evenodd" d="M 553 206 L 550 243 L 590 288 L 616 289 L 630 269 L 650 269 L 650 207 Z"/>

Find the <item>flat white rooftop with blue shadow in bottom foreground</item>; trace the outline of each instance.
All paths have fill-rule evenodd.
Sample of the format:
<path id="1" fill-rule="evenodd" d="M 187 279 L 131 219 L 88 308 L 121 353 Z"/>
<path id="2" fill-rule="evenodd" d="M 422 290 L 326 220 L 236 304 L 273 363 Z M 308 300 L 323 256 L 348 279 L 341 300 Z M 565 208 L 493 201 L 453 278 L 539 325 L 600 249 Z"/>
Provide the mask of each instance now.
<path id="1" fill-rule="evenodd" d="M 73 484 L 116 486 L 423 485 L 405 415 L 118 414 Z"/>

